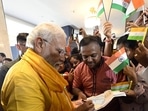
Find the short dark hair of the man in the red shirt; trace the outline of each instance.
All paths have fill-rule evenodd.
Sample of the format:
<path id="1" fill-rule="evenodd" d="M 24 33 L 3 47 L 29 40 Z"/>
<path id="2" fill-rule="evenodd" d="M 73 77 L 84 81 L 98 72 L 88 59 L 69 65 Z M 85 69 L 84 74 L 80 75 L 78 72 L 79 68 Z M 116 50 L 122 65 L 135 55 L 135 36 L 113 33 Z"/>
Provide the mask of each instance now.
<path id="1" fill-rule="evenodd" d="M 102 48 L 103 46 L 103 43 L 102 43 L 102 40 L 100 37 L 98 36 L 87 36 L 87 37 L 84 37 L 81 41 L 80 41 L 80 44 L 79 46 L 82 47 L 82 46 L 86 46 L 86 45 L 89 45 L 90 43 L 96 43 L 98 44 L 98 46 L 100 46 L 100 48 Z"/>

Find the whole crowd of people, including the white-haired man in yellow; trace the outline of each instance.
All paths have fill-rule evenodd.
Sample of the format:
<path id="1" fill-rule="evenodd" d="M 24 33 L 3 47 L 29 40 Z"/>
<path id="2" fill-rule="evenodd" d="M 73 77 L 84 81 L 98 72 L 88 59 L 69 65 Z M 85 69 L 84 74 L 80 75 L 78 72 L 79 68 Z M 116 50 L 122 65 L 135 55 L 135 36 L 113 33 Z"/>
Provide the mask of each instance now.
<path id="1" fill-rule="evenodd" d="M 148 9 L 142 13 L 148 19 Z M 140 20 L 139 20 L 140 21 Z M 131 27 L 147 24 L 130 23 Z M 111 89 L 112 84 L 132 81 L 126 96 L 114 98 L 99 111 L 148 110 L 148 36 L 140 41 L 128 40 L 124 34 L 117 41 L 117 51 L 124 47 L 130 65 L 115 74 L 105 63 L 113 54 L 112 24 L 105 22 L 102 41 L 99 32 L 83 38 L 78 47 L 66 45 L 66 34 L 54 23 L 37 25 L 30 33 L 17 35 L 18 59 L 0 68 L 1 109 L 4 111 L 95 111 L 96 96 Z"/>

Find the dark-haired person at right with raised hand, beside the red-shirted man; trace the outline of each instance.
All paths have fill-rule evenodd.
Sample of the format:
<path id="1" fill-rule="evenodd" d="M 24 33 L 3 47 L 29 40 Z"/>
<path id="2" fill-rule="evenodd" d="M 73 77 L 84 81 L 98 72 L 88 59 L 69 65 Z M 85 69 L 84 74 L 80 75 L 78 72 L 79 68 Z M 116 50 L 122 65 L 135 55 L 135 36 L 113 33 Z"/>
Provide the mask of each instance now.
<path id="1" fill-rule="evenodd" d="M 123 73 L 132 81 L 131 88 L 125 90 L 127 97 L 120 98 L 121 111 L 147 111 L 148 109 L 144 110 L 144 106 L 148 101 L 148 82 L 141 77 L 145 68 L 134 58 L 138 42 L 127 38 L 128 34 L 121 36 L 117 41 L 117 49 L 124 47 L 130 59 L 130 66 L 126 66 Z"/>

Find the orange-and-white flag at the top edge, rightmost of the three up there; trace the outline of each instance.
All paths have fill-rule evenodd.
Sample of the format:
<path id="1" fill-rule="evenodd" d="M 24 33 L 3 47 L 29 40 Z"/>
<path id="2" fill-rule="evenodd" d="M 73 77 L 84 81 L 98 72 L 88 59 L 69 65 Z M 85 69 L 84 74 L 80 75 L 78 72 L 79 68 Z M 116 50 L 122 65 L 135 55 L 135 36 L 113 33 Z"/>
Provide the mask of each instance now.
<path id="1" fill-rule="evenodd" d="M 127 10 L 126 10 L 126 16 L 130 16 L 133 12 L 135 12 L 137 9 L 144 6 L 144 0 L 131 0 Z"/>

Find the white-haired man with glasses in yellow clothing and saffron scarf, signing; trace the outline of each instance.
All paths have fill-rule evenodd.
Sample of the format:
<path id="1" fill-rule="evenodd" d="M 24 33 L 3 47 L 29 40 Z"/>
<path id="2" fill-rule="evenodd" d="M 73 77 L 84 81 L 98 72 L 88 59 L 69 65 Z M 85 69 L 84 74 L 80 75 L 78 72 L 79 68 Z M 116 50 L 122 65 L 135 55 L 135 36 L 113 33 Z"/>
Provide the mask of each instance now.
<path id="1" fill-rule="evenodd" d="M 27 37 L 27 51 L 8 71 L 1 91 L 5 111 L 93 111 L 92 101 L 74 108 L 68 83 L 54 68 L 64 62 L 66 35 L 56 24 L 42 23 Z"/>

